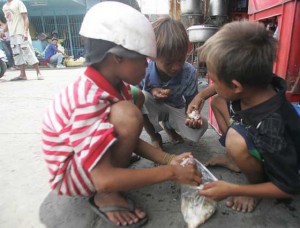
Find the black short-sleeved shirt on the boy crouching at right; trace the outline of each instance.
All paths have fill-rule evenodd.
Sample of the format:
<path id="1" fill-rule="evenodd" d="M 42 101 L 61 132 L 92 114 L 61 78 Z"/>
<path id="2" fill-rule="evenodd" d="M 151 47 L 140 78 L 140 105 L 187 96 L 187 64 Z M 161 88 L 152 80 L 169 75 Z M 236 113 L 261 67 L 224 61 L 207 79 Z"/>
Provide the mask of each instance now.
<path id="1" fill-rule="evenodd" d="M 286 82 L 273 77 L 275 96 L 242 110 L 240 101 L 230 105 L 231 117 L 243 124 L 260 152 L 265 173 L 278 188 L 300 193 L 300 117 L 285 97 Z"/>

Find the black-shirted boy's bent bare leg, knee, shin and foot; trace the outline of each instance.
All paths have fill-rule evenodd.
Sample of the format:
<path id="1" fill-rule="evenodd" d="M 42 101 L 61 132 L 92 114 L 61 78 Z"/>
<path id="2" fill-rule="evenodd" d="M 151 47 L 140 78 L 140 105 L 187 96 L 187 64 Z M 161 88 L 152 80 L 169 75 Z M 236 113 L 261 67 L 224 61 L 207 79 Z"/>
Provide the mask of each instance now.
<path id="1" fill-rule="evenodd" d="M 251 184 L 261 183 L 265 180 L 262 163 L 249 153 L 249 146 L 245 138 L 235 129 L 230 128 L 226 137 L 226 150 L 228 157 L 245 174 Z M 232 197 L 226 205 L 233 210 L 242 212 L 252 212 L 259 199 L 254 197 Z"/>

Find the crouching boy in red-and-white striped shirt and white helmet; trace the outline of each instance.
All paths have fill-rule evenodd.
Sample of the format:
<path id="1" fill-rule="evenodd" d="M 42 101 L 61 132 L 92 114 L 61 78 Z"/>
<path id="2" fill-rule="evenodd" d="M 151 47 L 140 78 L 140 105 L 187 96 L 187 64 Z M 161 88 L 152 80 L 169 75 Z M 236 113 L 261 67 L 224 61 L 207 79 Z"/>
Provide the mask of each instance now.
<path id="1" fill-rule="evenodd" d="M 98 3 L 87 12 L 80 35 L 88 67 L 57 95 L 43 121 L 51 188 L 91 196 L 92 209 L 115 225 L 141 226 L 145 212 L 121 192 L 168 180 L 198 185 L 201 175 L 195 166 L 179 164 L 191 153 L 172 156 L 139 139 L 143 116 L 129 85 L 143 79 L 146 58 L 156 57 L 146 17 L 122 3 Z M 129 169 L 133 152 L 162 166 Z"/>

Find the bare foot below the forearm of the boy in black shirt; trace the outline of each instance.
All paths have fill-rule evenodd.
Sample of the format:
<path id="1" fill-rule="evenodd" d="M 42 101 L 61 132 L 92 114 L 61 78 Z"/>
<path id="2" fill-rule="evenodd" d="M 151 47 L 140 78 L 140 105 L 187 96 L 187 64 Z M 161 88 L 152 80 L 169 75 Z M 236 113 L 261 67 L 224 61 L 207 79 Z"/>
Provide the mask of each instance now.
<path id="1" fill-rule="evenodd" d="M 226 206 L 238 212 L 252 212 L 256 208 L 259 200 L 253 197 L 232 197 L 226 202 Z"/>

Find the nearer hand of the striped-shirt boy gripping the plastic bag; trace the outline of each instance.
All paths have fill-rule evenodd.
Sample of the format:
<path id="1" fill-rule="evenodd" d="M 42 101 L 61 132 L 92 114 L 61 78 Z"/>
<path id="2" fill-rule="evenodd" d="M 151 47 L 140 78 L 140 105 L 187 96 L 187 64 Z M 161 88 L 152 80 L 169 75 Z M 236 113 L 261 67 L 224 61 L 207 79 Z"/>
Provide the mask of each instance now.
<path id="1" fill-rule="evenodd" d="M 202 181 L 202 174 L 199 173 L 196 164 L 186 166 L 174 165 L 174 181 L 181 184 L 198 186 Z"/>

